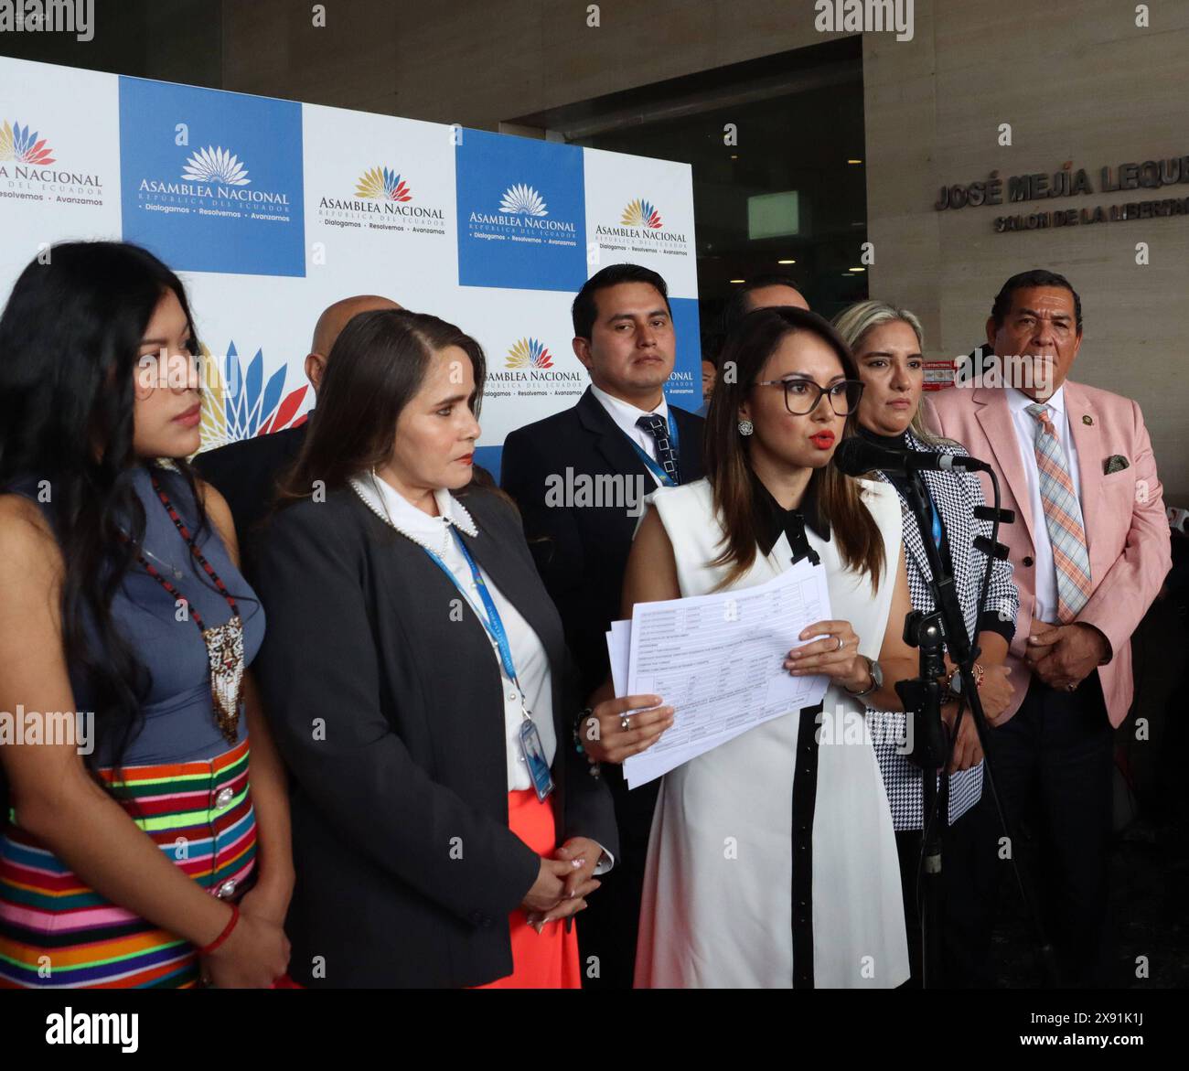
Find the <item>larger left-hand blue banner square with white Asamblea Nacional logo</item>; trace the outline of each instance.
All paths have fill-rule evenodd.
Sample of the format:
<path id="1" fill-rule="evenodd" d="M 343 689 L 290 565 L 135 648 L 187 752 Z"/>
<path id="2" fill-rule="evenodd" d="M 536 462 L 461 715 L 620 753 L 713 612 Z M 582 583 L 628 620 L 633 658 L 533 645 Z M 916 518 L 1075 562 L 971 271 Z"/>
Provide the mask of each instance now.
<path id="1" fill-rule="evenodd" d="M 304 276 L 302 188 L 301 105 L 120 78 L 124 238 L 170 267 Z"/>

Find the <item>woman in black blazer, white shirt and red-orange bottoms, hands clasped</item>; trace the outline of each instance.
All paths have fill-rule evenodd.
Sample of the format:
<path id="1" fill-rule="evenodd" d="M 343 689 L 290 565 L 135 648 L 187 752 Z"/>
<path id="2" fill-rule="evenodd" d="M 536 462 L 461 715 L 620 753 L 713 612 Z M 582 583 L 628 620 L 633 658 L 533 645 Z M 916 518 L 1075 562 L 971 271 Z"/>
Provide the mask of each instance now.
<path id="1" fill-rule="evenodd" d="M 483 378 L 434 316 L 356 316 L 260 541 L 304 985 L 579 982 L 615 819 L 520 517 L 471 484 Z"/>

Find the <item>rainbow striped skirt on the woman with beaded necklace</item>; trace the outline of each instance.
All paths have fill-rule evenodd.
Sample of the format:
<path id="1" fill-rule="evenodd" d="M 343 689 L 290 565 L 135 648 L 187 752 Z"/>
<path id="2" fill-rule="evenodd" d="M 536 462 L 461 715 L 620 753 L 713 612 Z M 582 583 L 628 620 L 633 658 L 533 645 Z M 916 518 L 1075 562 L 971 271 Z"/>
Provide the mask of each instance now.
<path id="1" fill-rule="evenodd" d="M 247 741 L 202 762 L 105 770 L 136 824 L 213 896 L 238 899 L 256 865 Z M 0 834 L 0 989 L 188 988 L 189 941 L 105 900 L 36 838 Z"/>

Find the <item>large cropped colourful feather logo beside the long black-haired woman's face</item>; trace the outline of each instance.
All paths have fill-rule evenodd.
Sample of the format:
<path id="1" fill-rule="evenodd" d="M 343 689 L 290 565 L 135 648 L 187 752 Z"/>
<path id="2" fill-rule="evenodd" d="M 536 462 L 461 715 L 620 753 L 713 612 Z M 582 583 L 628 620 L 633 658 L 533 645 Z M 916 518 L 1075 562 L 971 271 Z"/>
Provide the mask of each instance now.
<path id="1" fill-rule="evenodd" d="M 212 360 L 203 347 L 202 355 Z M 219 376 L 219 383 L 207 388 L 202 396 L 202 449 L 214 449 L 253 435 L 268 435 L 283 428 L 296 428 L 304 423 L 302 415 L 294 420 L 301 408 L 309 385 L 285 393 L 285 373 L 282 365 L 264 382 L 264 353 L 256 357 L 244 372 L 235 344 L 227 346 L 227 357 Z"/>

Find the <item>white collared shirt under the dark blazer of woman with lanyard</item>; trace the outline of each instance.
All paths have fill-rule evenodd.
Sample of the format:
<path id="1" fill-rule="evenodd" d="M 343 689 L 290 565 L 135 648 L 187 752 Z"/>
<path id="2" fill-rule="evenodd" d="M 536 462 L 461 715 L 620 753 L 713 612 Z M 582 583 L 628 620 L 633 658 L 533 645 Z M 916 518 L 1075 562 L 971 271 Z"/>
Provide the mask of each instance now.
<path id="1" fill-rule="evenodd" d="M 380 518 L 388 521 L 397 531 L 413 542 L 433 550 L 439 559 L 451 571 L 451 575 L 466 596 L 472 609 L 478 615 L 479 620 L 486 620 L 487 615 L 483 607 L 478 590 L 471 578 L 471 567 L 467 565 L 463 552 L 459 550 L 458 541 L 451 534 L 451 525 L 459 528 L 470 536 L 478 535 L 474 521 L 466 508 L 458 502 L 445 489 L 434 491 L 434 500 L 438 503 L 436 517 L 419 510 L 403 494 L 397 493 L 391 486 L 379 478 L 372 478 L 371 473 L 352 480 L 356 492 L 372 508 Z M 478 566 L 478 562 L 476 562 Z M 536 632 L 528 622 L 521 617 L 520 611 L 508 601 L 504 594 L 491 582 L 491 578 L 478 566 L 479 575 L 483 577 L 487 592 L 491 594 L 496 609 L 499 611 L 499 619 L 504 624 L 508 634 L 508 644 L 512 653 L 512 663 L 516 667 L 516 678 L 524 689 L 524 705 L 533 716 L 536 731 L 541 735 L 541 746 L 545 748 L 546 762 L 553 766 L 553 757 L 558 750 L 556 733 L 553 727 L 553 691 L 552 672 L 549 669 L 549 657 L 545 647 L 537 638 Z M 504 700 L 504 750 L 508 762 L 508 790 L 531 788 L 533 779 L 529 776 L 528 763 L 521 751 L 520 727 L 524 720 L 521 711 L 521 697 L 516 685 L 508 678 L 499 657 L 499 648 L 491 635 L 491 656 L 499 667 L 499 679 L 503 683 Z"/>

